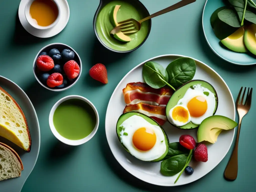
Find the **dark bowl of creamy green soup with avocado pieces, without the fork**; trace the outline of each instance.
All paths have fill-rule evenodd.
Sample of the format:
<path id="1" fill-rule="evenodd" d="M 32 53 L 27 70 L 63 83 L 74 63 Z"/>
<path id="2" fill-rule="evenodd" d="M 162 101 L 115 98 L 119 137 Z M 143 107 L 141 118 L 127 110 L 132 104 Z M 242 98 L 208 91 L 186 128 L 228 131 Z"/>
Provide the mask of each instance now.
<path id="1" fill-rule="evenodd" d="M 100 0 L 93 19 L 93 29 L 105 48 L 113 52 L 127 53 L 138 49 L 147 40 L 151 30 L 151 19 L 143 22 L 141 29 L 133 34 L 113 36 L 110 31 L 117 22 L 130 19 L 131 16 L 140 20 L 149 15 L 146 7 L 138 0 Z"/>

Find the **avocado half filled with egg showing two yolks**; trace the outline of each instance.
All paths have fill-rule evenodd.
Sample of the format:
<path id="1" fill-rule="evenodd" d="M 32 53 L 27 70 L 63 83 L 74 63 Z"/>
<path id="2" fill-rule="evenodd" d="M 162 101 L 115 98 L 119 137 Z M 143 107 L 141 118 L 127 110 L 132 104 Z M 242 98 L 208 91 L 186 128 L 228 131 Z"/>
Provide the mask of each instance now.
<path id="1" fill-rule="evenodd" d="M 166 105 L 167 120 L 179 129 L 195 129 L 215 114 L 218 96 L 212 85 L 203 80 L 191 80 L 180 86 Z"/>

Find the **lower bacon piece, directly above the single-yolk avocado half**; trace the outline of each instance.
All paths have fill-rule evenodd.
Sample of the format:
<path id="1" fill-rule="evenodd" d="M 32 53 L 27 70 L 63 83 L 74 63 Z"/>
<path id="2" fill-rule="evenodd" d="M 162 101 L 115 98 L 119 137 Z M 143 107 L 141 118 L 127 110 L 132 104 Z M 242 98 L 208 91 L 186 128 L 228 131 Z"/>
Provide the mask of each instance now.
<path id="1" fill-rule="evenodd" d="M 156 122 L 160 125 L 163 125 L 166 122 L 165 109 L 166 107 L 163 106 L 154 106 L 145 103 L 138 103 L 134 105 L 126 105 L 123 113 L 129 111 L 137 111 L 156 120 Z"/>

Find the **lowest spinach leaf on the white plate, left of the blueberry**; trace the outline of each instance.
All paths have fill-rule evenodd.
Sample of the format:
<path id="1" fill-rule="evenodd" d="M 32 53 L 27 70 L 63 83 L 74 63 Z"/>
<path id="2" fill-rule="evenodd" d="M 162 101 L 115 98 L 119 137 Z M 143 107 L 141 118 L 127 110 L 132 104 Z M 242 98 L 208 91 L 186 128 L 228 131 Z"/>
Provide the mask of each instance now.
<path id="1" fill-rule="evenodd" d="M 176 155 L 161 162 L 160 172 L 165 176 L 179 173 L 186 165 L 188 154 Z"/>

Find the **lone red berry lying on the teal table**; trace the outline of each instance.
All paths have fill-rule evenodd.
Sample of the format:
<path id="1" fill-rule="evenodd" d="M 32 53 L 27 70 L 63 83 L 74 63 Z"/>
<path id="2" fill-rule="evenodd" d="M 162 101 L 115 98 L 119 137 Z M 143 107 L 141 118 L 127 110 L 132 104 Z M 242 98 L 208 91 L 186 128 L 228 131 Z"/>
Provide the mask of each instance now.
<path id="1" fill-rule="evenodd" d="M 97 81 L 100 81 L 104 84 L 108 83 L 107 69 L 105 65 L 101 63 L 97 63 L 96 65 L 92 66 L 92 68 L 89 71 L 89 74 L 93 79 Z"/>

